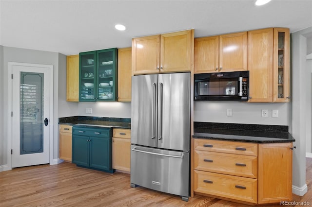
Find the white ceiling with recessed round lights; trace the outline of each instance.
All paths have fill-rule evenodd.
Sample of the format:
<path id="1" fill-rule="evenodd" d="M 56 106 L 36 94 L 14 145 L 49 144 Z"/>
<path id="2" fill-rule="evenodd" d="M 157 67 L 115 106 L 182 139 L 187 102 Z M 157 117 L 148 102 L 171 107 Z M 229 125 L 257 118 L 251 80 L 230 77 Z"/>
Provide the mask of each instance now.
<path id="1" fill-rule="evenodd" d="M 254 1 L 0 0 L 0 45 L 71 55 L 131 47 L 132 37 L 186 29 L 200 37 L 312 26 L 312 0 L 272 0 L 261 7 Z M 117 31 L 117 23 L 127 30 Z"/>

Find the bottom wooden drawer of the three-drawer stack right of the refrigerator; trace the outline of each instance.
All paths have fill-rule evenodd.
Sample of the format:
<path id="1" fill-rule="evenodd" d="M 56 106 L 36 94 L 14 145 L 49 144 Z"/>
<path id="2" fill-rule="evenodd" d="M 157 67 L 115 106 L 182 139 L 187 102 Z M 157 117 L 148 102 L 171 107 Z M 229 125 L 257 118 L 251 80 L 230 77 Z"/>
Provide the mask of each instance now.
<path id="1" fill-rule="evenodd" d="M 194 191 L 257 203 L 257 179 L 194 171 Z"/>

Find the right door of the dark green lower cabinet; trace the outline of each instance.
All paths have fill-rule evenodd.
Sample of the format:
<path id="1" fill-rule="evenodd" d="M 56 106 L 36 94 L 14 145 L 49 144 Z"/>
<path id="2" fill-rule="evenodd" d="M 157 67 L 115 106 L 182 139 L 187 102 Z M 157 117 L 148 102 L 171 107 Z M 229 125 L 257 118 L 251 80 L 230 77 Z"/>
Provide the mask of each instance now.
<path id="1" fill-rule="evenodd" d="M 109 171 L 112 169 L 110 138 L 90 138 L 90 167 Z"/>

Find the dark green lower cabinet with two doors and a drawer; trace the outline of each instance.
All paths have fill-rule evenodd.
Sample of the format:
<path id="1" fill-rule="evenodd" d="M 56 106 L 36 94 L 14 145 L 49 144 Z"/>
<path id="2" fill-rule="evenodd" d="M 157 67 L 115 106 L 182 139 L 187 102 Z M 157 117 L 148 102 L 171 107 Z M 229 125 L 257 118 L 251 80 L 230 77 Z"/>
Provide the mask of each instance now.
<path id="1" fill-rule="evenodd" d="M 114 173 L 112 129 L 73 126 L 72 162 L 79 167 Z"/>

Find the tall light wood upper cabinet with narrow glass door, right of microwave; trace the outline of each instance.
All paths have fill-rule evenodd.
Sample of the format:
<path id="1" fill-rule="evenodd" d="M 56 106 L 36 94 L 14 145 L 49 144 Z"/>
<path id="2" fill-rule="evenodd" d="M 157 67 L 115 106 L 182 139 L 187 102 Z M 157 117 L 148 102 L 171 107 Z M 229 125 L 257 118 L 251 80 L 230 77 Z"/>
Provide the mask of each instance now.
<path id="1" fill-rule="evenodd" d="M 248 32 L 249 102 L 289 102 L 289 29 Z"/>

